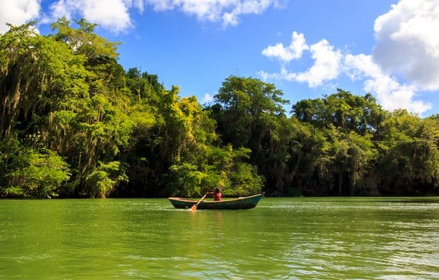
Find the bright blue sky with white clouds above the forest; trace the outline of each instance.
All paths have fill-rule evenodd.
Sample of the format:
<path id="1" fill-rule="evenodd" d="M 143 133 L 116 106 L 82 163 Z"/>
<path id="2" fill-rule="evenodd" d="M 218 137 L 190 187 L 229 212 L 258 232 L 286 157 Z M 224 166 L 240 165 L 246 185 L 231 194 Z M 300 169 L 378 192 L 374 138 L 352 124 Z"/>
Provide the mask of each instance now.
<path id="1" fill-rule="evenodd" d="M 213 101 L 231 76 L 259 78 L 291 106 L 372 93 L 383 109 L 439 113 L 439 0 L 0 0 L 6 22 L 85 18 L 120 42 L 124 69 Z"/>

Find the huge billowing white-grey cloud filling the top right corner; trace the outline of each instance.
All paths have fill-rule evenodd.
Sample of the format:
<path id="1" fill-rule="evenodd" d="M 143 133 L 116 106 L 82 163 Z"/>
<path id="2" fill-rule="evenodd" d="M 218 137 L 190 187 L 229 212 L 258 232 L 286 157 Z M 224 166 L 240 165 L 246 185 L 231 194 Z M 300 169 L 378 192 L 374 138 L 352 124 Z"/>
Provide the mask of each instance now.
<path id="1" fill-rule="evenodd" d="M 439 0 L 401 0 L 375 20 L 373 59 L 422 90 L 439 90 Z"/>

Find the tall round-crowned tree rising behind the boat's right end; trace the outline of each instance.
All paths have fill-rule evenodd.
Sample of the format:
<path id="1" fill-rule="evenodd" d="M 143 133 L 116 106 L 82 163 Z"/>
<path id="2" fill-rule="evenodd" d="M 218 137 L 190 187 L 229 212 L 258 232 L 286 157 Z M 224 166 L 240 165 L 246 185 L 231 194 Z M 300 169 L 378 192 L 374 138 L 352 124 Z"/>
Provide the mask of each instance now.
<path id="1" fill-rule="evenodd" d="M 282 153 L 288 143 L 289 132 L 282 130 L 286 123 L 283 106 L 288 102 L 282 95 L 273 84 L 230 76 L 215 95 L 217 104 L 210 107 L 223 143 L 230 143 L 233 148 L 250 148 L 250 162 L 257 165 L 271 190 L 282 189 L 283 174 L 278 174 L 278 167 L 285 160 L 273 152 Z"/>

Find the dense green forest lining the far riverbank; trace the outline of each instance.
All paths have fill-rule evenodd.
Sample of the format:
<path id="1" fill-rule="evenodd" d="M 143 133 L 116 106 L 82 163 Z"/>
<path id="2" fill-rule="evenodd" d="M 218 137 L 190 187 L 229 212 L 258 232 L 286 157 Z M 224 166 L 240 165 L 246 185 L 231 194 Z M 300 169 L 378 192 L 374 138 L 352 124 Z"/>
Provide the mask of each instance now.
<path id="1" fill-rule="evenodd" d="M 92 23 L 33 24 L 0 34 L 0 197 L 439 195 L 438 114 L 233 75 L 202 105 Z"/>

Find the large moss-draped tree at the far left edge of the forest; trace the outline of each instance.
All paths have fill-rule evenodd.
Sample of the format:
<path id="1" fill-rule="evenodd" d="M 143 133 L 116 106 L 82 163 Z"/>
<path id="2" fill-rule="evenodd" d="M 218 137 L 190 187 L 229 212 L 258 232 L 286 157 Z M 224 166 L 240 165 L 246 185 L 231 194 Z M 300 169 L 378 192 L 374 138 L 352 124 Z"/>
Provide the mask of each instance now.
<path id="1" fill-rule="evenodd" d="M 0 139 L 14 125 L 30 129 L 36 116 L 66 107 L 66 97 L 87 91 L 84 57 L 73 55 L 64 43 L 34 32 L 31 23 L 0 37 Z"/>

